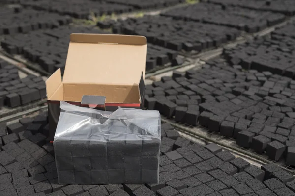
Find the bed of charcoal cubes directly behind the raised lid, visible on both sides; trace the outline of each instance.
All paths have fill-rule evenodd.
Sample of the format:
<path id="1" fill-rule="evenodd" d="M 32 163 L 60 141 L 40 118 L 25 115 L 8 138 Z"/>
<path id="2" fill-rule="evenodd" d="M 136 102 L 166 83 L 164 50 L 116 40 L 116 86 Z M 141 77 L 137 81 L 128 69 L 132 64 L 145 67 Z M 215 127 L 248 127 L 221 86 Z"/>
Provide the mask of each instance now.
<path id="1" fill-rule="evenodd" d="M 53 30 L 30 32 L 6 37 L 1 41 L 2 48 L 9 54 L 22 54 L 38 63 L 46 72 L 54 73 L 61 68 L 63 73 L 71 33 L 107 33 L 92 27 L 60 27 Z M 152 70 L 170 63 L 182 64 L 177 52 L 148 44 L 146 67 Z"/>

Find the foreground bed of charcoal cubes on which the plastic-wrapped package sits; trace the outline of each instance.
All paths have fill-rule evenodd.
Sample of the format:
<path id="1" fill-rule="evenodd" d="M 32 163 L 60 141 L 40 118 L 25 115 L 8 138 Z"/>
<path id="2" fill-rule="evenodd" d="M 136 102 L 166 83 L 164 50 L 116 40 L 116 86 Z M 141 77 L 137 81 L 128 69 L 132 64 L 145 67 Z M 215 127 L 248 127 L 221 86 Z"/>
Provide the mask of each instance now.
<path id="1" fill-rule="evenodd" d="M 295 193 L 294 176 L 282 168 L 274 164 L 259 168 L 213 143 L 192 144 L 170 124 L 161 125 L 158 184 L 59 184 L 54 148 L 44 140 L 49 131 L 47 123 L 47 114 L 42 113 L 7 127 L 0 125 L 4 142 L 0 148 L 0 195 L 292 196 Z"/>

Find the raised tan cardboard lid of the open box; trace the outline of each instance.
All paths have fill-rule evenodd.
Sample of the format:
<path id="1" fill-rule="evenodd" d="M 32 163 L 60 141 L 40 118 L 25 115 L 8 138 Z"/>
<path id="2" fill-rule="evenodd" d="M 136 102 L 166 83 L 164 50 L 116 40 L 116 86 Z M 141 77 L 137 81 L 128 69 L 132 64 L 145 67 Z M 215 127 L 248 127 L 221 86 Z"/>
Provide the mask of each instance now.
<path id="1" fill-rule="evenodd" d="M 143 36 L 71 34 L 63 83 L 139 84 L 146 55 Z"/>

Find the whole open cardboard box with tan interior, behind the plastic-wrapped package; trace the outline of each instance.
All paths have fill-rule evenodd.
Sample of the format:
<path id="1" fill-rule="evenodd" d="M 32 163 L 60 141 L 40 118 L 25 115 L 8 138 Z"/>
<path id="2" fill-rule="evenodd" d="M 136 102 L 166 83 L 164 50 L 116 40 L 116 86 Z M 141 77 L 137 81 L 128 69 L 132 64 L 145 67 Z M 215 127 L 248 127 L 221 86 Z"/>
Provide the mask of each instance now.
<path id="1" fill-rule="evenodd" d="M 85 95 L 105 96 L 107 111 L 142 109 L 146 54 L 143 36 L 71 34 L 63 79 L 58 69 L 46 81 L 49 140 L 54 138 L 61 100 L 81 105 Z"/>

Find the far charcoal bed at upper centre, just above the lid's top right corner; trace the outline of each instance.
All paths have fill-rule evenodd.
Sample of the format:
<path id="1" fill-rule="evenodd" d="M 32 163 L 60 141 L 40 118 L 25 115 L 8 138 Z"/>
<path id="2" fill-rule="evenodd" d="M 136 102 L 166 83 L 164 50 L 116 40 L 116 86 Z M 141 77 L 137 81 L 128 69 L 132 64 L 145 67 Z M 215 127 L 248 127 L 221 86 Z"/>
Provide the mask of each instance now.
<path id="1" fill-rule="evenodd" d="M 226 26 L 174 20 L 164 16 L 144 16 L 126 20 L 98 22 L 113 33 L 143 35 L 149 43 L 172 50 L 201 51 L 235 40 L 240 31 Z"/>

